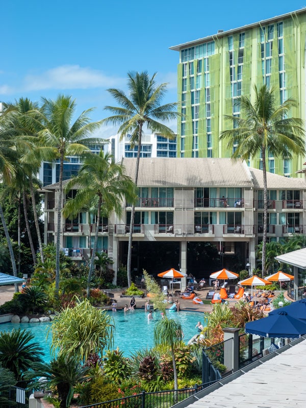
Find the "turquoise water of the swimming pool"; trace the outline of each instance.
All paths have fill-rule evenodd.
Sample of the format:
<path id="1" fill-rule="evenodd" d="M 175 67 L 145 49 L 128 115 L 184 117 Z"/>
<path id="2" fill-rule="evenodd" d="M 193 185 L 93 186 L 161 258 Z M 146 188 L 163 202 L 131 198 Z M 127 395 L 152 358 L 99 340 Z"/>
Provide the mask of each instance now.
<path id="1" fill-rule="evenodd" d="M 124 313 L 123 311 L 108 312 L 114 319 L 114 346 L 119 347 L 125 356 L 141 348 L 150 348 L 154 346 L 154 327 L 157 321 L 161 319 L 159 311 L 153 312 L 153 319 L 148 321 L 147 313 L 144 310 L 135 310 Z M 179 321 L 183 328 L 184 341 L 188 341 L 198 333 L 195 325 L 198 321 L 204 324 L 203 313 L 183 312 L 171 313 L 166 312 L 169 318 Z M 45 361 L 50 361 L 50 339 L 51 334 L 46 339 L 47 330 L 52 323 L 2 323 L 0 331 L 12 330 L 12 328 L 21 328 L 31 330 L 34 334 L 34 341 L 39 343 L 43 348 Z"/>

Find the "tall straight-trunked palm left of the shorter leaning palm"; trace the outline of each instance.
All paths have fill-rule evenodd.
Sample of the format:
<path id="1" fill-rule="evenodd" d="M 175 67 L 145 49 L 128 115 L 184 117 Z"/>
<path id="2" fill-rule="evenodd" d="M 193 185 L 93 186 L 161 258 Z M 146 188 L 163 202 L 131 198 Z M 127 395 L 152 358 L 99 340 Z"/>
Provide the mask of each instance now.
<path id="1" fill-rule="evenodd" d="M 32 120 L 42 125 L 42 130 L 38 132 L 40 157 L 45 160 L 58 160 L 60 164 L 55 275 L 55 296 L 58 297 L 64 161 L 69 156 L 82 156 L 89 150 L 87 145 L 101 142 L 101 139 L 89 138 L 92 132 L 98 129 L 100 122 L 90 122 L 88 114 L 92 109 L 84 111 L 72 122 L 76 104 L 70 96 L 59 95 L 55 100 L 43 98 L 43 102 L 40 110 L 28 112 L 28 116 L 32 116 Z"/>

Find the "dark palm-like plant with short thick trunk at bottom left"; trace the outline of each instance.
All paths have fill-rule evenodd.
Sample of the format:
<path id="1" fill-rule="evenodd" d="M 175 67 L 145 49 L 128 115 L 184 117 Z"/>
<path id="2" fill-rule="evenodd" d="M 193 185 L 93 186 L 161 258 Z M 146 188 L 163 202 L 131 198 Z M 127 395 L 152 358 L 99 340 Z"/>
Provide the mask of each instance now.
<path id="1" fill-rule="evenodd" d="M 26 380 L 31 380 L 34 388 L 39 386 L 39 377 L 45 377 L 47 386 L 55 388 L 61 408 L 68 408 L 73 397 L 75 385 L 87 381 L 89 367 L 82 366 L 78 356 L 61 353 L 49 364 L 33 364 L 32 370 L 24 374 Z"/>

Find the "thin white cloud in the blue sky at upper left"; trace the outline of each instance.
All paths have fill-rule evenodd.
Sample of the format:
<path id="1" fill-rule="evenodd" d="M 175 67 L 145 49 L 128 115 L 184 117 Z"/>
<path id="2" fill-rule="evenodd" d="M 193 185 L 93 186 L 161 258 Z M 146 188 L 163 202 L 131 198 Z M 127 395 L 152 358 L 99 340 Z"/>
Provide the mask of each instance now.
<path id="1" fill-rule="evenodd" d="M 80 65 L 62 65 L 24 78 L 24 90 L 89 89 L 118 87 L 125 79 L 108 77 L 103 72 Z"/>

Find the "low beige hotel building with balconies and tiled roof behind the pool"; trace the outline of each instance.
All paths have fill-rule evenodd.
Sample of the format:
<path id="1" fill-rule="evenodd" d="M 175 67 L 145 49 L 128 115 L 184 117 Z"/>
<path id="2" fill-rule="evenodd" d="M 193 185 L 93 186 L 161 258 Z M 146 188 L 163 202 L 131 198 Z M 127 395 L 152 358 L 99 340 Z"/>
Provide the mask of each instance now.
<path id="1" fill-rule="evenodd" d="M 134 176 L 136 159 L 123 159 L 125 172 Z M 268 240 L 306 233 L 306 183 L 268 173 Z M 167 261 L 183 272 L 208 276 L 217 265 L 229 267 L 238 259 L 241 269 L 256 267 L 256 245 L 263 235 L 263 175 L 243 162 L 230 159 L 140 159 L 139 198 L 135 207 L 133 268 L 141 274 L 167 269 Z M 57 227 L 58 184 L 46 186 L 45 243 L 54 242 Z M 72 193 L 73 194 L 73 191 Z M 117 271 L 126 264 L 131 205 L 123 202 L 122 216 L 101 219 L 98 250 L 107 251 Z M 80 213 L 63 219 L 61 245 L 74 261 L 91 256 L 95 217 Z M 194 247 L 215 249 L 209 266 Z M 139 248 L 141 248 L 139 250 Z M 203 249 L 204 248 L 204 249 Z M 175 252 L 175 253 L 174 253 Z M 207 251 L 206 251 L 207 252 Z M 161 258 L 162 264 L 158 264 Z M 218 264 L 217 264 L 218 261 Z M 215 269 L 213 269 L 215 268 Z"/>

